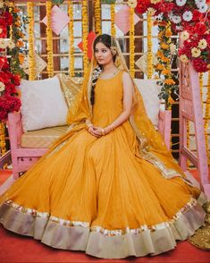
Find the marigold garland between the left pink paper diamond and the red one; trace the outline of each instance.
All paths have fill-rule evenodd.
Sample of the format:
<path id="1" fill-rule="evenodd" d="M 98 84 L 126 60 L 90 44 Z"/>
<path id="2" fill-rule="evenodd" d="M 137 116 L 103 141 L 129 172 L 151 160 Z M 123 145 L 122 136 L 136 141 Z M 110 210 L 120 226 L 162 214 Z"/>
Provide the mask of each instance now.
<path id="1" fill-rule="evenodd" d="M 71 77 L 74 77 L 74 39 L 73 39 L 73 4 L 71 0 L 68 0 L 68 14 L 70 17 L 70 22 L 69 22 L 69 74 Z"/>

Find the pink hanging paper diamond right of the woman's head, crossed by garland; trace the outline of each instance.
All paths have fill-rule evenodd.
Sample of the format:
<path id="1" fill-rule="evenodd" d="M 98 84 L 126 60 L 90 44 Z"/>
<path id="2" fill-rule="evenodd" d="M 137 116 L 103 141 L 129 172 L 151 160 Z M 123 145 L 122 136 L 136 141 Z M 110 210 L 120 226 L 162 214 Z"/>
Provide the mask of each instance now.
<path id="1" fill-rule="evenodd" d="M 133 23 L 136 25 L 140 21 L 139 16 L 134 13 Z M 122 9 L 115 13 L 115 24 L 127 34 L 130 30 L 130 7 L 127 4 L 122 6 Z"/>

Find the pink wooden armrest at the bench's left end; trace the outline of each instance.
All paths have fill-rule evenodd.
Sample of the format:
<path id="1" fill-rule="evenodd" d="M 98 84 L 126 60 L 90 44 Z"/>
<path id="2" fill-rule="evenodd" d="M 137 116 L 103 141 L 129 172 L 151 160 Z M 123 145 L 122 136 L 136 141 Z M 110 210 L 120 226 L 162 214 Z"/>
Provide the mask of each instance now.
<path id="1" fill-rule="evenodd" d="M 10 137 L 11 148 L 19 148 L 21 146 L 22 124 L 21 113 L 15 112 L 8 115 L 8 132 Z"/>

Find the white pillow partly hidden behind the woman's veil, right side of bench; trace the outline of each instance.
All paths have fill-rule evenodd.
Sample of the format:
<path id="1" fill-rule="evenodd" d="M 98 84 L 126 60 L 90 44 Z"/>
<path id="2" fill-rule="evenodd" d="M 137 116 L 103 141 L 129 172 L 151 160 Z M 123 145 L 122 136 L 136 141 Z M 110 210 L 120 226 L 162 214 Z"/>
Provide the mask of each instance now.
<path id="1" fill-rule="evenodd" d="M 143 98 L 147 115 L 155 127 L 157 127 L 161 103 L 161 100 L 158 98 L 160 87 L 156 84 L 156 80 L 134 79 L 134 81 Z"/>

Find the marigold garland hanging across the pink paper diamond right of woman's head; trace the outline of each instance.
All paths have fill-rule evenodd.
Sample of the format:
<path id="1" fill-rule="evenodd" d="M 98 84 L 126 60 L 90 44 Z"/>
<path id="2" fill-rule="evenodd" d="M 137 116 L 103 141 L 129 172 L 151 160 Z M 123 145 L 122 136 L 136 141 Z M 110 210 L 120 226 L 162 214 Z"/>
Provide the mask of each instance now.
<path id="1" fill-rule="evenodd" d="M 134 9 L 130 8 L 130 75 L 132 78 L 135 76 L 135 70 L 134 70 L 134 34 L 135 34 L 135 28 L 134 28 Z"/>

